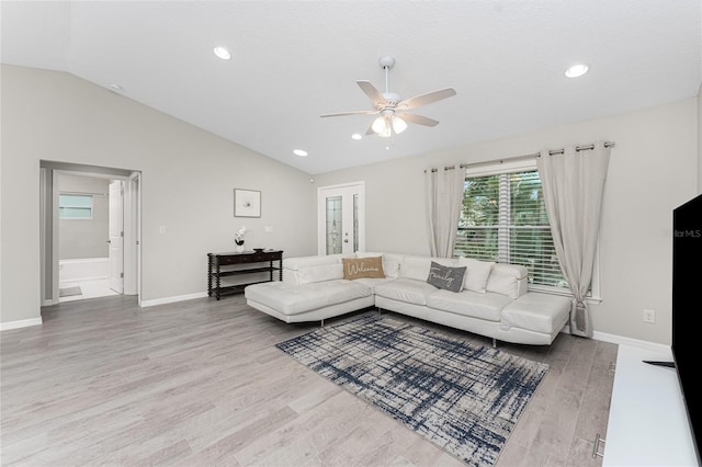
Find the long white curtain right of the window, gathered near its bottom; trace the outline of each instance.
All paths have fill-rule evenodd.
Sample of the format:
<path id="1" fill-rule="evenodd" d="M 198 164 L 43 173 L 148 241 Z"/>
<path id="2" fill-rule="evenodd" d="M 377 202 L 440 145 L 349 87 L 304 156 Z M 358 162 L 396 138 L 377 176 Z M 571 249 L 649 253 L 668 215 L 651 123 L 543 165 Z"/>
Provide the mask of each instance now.
<path id="1" fill-rule="evenodd" d="M 609 161 L 604 141 L 592 149 L 568 147 L 553 156 L 542 151 L 536 159 L 554 247 L 574 295 L 570 333 L 586 338 L 592 337 L 586 294 L 592 281 Z"/>

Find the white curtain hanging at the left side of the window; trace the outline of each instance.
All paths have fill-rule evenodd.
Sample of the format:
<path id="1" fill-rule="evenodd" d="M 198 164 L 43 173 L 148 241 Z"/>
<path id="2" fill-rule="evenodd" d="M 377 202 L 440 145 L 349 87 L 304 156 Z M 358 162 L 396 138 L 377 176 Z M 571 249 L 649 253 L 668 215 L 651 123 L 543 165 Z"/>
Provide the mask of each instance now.
<path id="1" fill-rule="evenodd" d="M 432 257 L 452 258 L 463 206 L 465 170 L 456 163 L 455 169 L 427 169 L 424 173 L 429 250 Z"/>

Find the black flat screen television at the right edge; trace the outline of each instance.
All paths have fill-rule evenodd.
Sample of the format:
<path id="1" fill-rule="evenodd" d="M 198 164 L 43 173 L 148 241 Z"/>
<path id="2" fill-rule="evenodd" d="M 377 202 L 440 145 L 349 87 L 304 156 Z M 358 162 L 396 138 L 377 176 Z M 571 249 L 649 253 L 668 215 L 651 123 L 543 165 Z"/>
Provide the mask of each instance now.
<path id="1" fill-rule="evenodd" d="M 702 194 L 672 212 L 672 358 L 678 373 L 692 442 L 700 457 L 702 435 Z"/>

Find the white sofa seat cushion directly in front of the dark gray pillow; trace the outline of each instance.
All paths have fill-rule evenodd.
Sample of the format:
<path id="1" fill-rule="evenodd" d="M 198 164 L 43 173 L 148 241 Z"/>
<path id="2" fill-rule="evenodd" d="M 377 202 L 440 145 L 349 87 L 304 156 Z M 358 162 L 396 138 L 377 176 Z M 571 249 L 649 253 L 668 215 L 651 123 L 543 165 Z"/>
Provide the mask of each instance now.
<path id="1" fill-rule="evenodd" d="M 471 291 L 463 291 L 460 294 L 437 291 L 427 297 L 427 305 L 430 308 L 488 321 L 499 321 L 502 308 L 510 301 L 512 299 L 505 295 Z"/>

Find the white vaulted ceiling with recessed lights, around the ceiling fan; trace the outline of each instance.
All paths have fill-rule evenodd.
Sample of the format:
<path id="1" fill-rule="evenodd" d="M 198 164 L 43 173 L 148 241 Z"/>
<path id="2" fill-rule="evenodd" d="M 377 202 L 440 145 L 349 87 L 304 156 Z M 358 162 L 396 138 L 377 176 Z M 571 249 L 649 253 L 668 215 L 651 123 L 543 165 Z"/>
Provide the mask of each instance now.
<path id="1" fill-rule="evenodd" d="M 0 14 L 2 62 L 118 83 L 310 174 L 673 102 L 702 79 L 700 0 L 3 0 Z M 373 115 L 319 116 L 371 110 L 355 81 L 384 91 L 384 55 L 403 99 L 457 92 L 389 149 L 351 139 Z M 590 72 L 565 78 L 578 61 Z"/>

